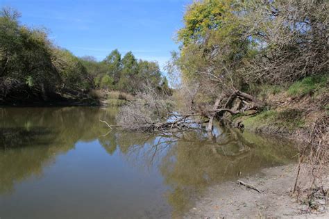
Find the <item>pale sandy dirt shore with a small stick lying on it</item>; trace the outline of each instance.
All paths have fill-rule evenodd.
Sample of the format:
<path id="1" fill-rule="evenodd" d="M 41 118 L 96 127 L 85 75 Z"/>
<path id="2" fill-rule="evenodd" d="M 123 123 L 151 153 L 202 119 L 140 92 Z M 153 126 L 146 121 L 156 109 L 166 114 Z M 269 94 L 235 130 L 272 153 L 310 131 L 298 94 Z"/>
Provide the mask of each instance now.
<path id="1" fill-rule="evenodd" d="M 266 168 L 258 175 L 239 179 L 261 193 L 236 181 L 212 186 L 185 218 L 329 218 L 328 202 L 321 201 L 319 211 L 305 213 L 306 206 L 290 195 L 295 170 L 296 165 Z"/>

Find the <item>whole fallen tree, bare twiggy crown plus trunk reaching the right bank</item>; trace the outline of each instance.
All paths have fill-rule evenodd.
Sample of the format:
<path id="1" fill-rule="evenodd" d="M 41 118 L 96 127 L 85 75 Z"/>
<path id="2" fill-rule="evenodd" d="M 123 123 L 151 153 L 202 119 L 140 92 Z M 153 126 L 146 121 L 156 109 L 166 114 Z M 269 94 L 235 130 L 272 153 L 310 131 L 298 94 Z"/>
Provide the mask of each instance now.
<path id="1" fill-rule="evenodd" d="M 174 112 L 175 102 L 167 95 L 159 94 L 153 88 L 140 92 L 135 100 L 123 106 L 117 115 L 117 125 L 122 129 L 143 132 L 186 131 L 200 128 L 212 132 L 215 119 L 221 119 L 225 113 L 236 115 L 250 109 L 260 110 L 264 104 L 245 92 L 234 90 L 233 95 L 221 94 L 212 108 L 194 110 L 189 113 Z M 239 99 L 239 107 L 233 108 L 233 102 Z"/>

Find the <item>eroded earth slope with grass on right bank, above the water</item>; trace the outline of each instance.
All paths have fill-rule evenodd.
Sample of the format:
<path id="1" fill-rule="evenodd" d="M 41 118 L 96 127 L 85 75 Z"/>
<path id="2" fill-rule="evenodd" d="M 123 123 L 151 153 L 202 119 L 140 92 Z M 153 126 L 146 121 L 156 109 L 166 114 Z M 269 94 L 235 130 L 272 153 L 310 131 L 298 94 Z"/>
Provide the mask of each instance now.
<path id="1" fill-rule="evenodd" d="M 266 103 L 260 113 L 246 111 L 233 116 L 233 123 L 242 123 L 244 129 L 266 133 L 300 142 L 309 142 L 312 131 L 320 123 L 329 124 L 329 77 L 308 77 L 288 88 L 267 86 L 259 99 Z M 323 140 L 329 143 L 328 129 L 322 127 Z M 318 136 L 321 137 L 321 136 Z"/>

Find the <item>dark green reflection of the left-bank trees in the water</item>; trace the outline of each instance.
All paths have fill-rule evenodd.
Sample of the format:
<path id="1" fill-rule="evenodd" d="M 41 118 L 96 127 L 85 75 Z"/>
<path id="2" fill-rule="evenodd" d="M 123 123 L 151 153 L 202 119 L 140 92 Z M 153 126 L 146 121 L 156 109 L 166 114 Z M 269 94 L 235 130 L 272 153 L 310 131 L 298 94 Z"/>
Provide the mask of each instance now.
<path id="1" fill-rule="evenodd" d="M 114 120 L 115 109 L 1 108 L 0 193 L 42 169 L 78 141 L 94 140 L 108 131 L 99 119 Z"/>

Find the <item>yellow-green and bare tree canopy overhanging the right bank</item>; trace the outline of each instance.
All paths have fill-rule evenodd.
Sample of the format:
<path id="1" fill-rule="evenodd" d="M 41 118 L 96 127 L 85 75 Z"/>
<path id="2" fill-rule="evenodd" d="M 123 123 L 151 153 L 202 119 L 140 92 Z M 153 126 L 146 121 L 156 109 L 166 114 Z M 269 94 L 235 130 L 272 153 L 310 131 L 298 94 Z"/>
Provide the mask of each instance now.
<path id="1" fill-rule="evenodd" d="M 182 86 L 197 84 L 201 99 L 234 90 L 258 96 L 260 86 L 276 86 L 275 93 L 307 76 L 326 75 L 327 14 L 322 0 L 194 1 L 169 72 L 180 72 Z"/>

